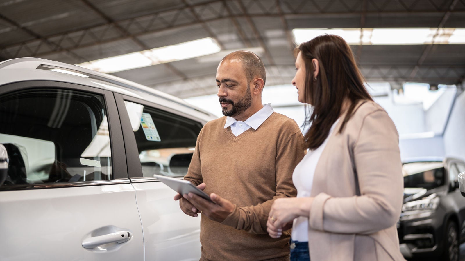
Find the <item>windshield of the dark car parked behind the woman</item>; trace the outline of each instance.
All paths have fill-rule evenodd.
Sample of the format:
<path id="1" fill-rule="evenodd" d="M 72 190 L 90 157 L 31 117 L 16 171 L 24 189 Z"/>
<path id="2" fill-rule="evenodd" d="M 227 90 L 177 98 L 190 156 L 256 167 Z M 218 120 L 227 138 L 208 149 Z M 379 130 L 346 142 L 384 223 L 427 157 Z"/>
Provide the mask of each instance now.
<path id="1" fill-rule="evenodd" d="M 445 183 L 444 163 L 412 162 L 402 166 L 404 188 L 434 189 Z"/>

